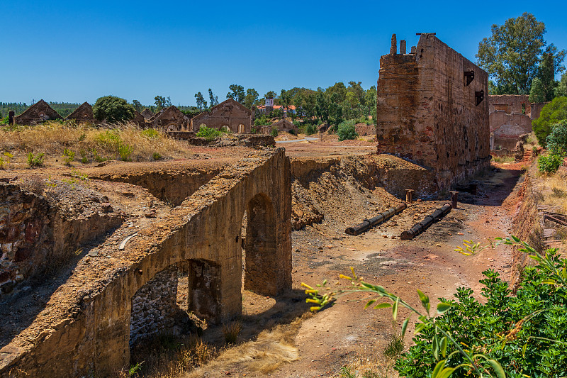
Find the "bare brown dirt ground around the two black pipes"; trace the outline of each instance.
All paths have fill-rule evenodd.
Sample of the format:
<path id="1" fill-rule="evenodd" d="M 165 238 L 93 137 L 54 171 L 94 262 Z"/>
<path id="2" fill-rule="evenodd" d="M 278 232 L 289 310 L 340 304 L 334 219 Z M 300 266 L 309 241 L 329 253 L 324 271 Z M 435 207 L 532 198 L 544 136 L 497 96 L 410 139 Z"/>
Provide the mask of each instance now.
<path id="1" fill-rule="evenodd" d="M 333 143 L 338 144 L 332 140 L 305 147 L 290 143 L 293 147 L 286 145 L 286 151 L 291 156 L 311 155 L 311 152 L 321 156 L 319 154 L 325 151 L 329 155 L 328 148 Z M 337 147 L 335 153 L 350 154 L 350 147 Z M 374 148 L 368 142 L 362 147 Z M 458 209 L 451 210 L 414 240 L 400 240 L 400 233 L 446 204 L 447 200 L 414 202 L 382 225 L 352 236 L 344 233 L 345 228 L 361 222 L 369 214 L 376 214 L 378 209 L 383 211 L 395 206 L 400 200 L 388 197 L 381 189 L 353 194 L 359 188 L 345 194 L 343 201 L 330 199 L 322 223 L 293 232 L 293 295 L 286 299 L 252 300 L 253 294 L 245 293 L 245 313 L 272 317 L 274 321 L 283 316 L 282 311 L 301 313 L 305 311 L 302 282 L 311 286 L 323 279 L 338 282 L 339 274 L 350 274 L 349 267 L 354 267 L 355 272 L 368 282 L 386 287 L 415 306 L 420 306 L 416 289 L 430 296 L 432 306 L 436 306 L 438 298 L 451 298 L 458 287 L 471 287 L 480 295 L 478 281 L 485 269 L 495 269 L 505 279 L 510 277 L 512 251 L 499 247 L 466 257 L 454 249 L 461 246 L 463 240 L 485 241 L 486 238 L 509 235 L 516 211 L 515 188 L 523 179 L 522 165 L 525 163 L 493 165 L 488 174 L 477 178 L 477 194 L 459 194 Z M 337 377 L 339 369 L 354 360 L 371 360 L 374 366 L 386 364 L 382 355 L 384 345 L 395 328 L 399 330 L 400 319 L 409 313 L 400 310 L 396 326 L 391 311 L 365 310 L 368 299 L 370 297 L 363 295 L 344 296 L 334 306 L 305 318 L 293 338 L 298 359 L 281 365 L 274 372 L 262 374 L 249 369 L 245 363 L 235 363 L 210 369 L 205 367 L 195 376 Z M 411 345 L 415 320 L 414 317 L 410 321 L 406 348 Z M 249 326 L 250 323 L 245 322 L 243 332 Z"/>

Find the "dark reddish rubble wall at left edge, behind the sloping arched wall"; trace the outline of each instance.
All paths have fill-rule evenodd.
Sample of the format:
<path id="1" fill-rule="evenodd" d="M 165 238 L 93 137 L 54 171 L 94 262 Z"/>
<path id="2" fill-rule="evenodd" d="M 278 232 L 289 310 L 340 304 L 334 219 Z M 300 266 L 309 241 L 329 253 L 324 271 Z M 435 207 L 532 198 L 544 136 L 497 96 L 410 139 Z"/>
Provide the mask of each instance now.
<path id="1" fill-rule="evenodd" d="M 57 190 L 57 189 L 53 189 Z M 0 184 L 0 300 L 27 279 L 64 265 L 80 245 L 122 223 L 122 216 L 93 193 L 69 193 L 73 213 L 18 184 Z"/>

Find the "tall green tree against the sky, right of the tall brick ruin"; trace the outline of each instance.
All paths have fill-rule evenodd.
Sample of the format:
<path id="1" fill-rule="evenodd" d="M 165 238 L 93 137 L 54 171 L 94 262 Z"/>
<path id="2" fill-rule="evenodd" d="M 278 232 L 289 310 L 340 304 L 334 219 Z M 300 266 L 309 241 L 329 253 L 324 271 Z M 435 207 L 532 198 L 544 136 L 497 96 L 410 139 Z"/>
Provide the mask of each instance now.
<path id="1" fill-rule="evenodd" d="M 492 26 L 490 38 L 478 44 L 478 65 L 490 74 L 490 93 L 529 94 L 544 52 L 545 25 L 531 13 L 508 18 L 504 25 Z M 555 51 L 554 61 L 561 63 L 565 51 Z M 555 67 L 560 72 L 561 65 Z"/>

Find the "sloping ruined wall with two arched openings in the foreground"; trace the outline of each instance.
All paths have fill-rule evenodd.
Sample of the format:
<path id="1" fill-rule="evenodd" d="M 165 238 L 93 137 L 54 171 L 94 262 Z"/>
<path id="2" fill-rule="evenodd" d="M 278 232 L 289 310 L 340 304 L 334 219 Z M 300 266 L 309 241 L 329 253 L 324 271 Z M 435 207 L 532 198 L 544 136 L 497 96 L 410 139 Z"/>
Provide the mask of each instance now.
<path id="1" fill-rule="evenodd" d="M 213 296 L 218 307 L 211 321 L 241 313 L 242 218 L 257 195 L 269 199 L 262 206 L 274 214 L 274 228 L 247 229 L 247 234 L 273 230 L 275 248 L 254 262 L 269 281 L 250 277 L 255 284 L 249 288 L 266 295 L 291 289 L 290 164 L 283 148 L 266 148 L 225 169 L 169 215 L 138 229 L 124 250 L 109 237 L 96 257 L 77 262 L 43 311 L 1 348 L 0 377 L 16 370 L 30 377 L 106 377 L 128 367 L 132 298 L 180 262 L 208 265 L 208 278 L 189 285 L 207 289 L 189 310 Z M 247 245 L 247 254 L 254 255 L 254 248 Z"/>

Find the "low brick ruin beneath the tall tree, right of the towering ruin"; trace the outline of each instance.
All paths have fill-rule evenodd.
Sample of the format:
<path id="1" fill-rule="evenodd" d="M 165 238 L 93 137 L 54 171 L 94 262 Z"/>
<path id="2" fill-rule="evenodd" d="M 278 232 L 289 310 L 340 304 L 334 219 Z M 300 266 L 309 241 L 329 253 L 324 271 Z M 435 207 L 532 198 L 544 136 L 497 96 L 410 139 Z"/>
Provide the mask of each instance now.
<path id="1" fill-rule="evenodd" d="M 502 94 L 488 96 L 490 150 L 515 149 L 522 135 L 532 132 L 532 120 L 546 103 L 530 103 L 529 96 Z"/>

